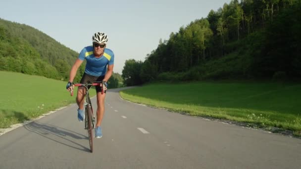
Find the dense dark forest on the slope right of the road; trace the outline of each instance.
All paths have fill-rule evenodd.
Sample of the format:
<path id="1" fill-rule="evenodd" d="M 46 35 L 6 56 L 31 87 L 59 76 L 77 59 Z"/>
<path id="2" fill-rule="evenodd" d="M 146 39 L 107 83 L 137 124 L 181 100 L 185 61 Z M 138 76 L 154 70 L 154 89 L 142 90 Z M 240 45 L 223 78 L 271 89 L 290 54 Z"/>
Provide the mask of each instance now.
<path id="1" fill-rule="evenodd" d="M 126 60 L 122 77 L 126 85 L 299 79 L 300 30 L 300 0 L 232 0 L 160 40 L 145 61 Z"/>

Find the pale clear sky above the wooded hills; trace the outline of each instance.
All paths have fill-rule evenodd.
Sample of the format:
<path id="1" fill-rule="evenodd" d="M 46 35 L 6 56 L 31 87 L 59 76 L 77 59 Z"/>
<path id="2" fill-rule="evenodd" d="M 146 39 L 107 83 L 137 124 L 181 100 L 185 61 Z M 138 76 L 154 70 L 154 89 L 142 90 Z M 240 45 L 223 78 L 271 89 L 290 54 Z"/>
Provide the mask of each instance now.
<path id="1" fill-rule="evenodd" d="M 0 0 L 0 18 L 34 27 L 80 52 L 92 36 L 108 36 L 115 73 L 125 61 L 144 61 L 159 40 L 231 0 Z"/>

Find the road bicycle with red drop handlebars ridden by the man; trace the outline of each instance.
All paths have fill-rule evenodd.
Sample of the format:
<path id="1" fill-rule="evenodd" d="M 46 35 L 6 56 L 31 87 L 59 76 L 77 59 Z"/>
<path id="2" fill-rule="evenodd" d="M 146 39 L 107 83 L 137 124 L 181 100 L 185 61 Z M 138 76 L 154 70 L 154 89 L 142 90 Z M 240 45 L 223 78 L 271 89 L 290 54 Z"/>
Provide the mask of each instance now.
<path id="1" fill-rule="evenodd" d="M 71 86 L 71 96 L 73 96 L 73 89 L 74 86 L 83 86 L 86 88 L 86 100 L 85 100 L 85 129 L 88 130 L 88 136 L 89 136 L 89 144 L 90 144 L 90 151 L 91 153 L 93 153 L 93 128 L 95 128 L 95 116 L 93 114 L 93 108 L 92 108 L 92 104 L 91 104 L 91 99 L 90 99 L 90 95 L 89 95 L 89 88 L 91 86 L 96 86 L 96 85 L 100 85 L 101 84 L 101 94 L 103 94 L 103 85 L 104 85 L 105 81 L 101 81 L 101 82 L 91 82 L 91 83 L 86 83 L 86 84 L 74 84 Z"/>

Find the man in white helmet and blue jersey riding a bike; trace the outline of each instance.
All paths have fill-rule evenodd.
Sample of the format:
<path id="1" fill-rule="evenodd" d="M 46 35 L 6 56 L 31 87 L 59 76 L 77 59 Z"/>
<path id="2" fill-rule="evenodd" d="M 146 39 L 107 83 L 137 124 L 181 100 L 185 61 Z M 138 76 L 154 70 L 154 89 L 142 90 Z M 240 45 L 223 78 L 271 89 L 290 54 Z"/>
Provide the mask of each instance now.
<path id="1" fill-rule="evenodd" d="M 107 89 L 107 81 L 113 73 L 114 66 L 114 53 L 112 50 L 106 48 L 106 43 L 108 37 L 102 32 L 97 32 L 92 37 L 93 45 L 87 46 L 82 49 L 78 59 L 75 61 L 74 65 L 70 71 L 69 82 L 66 85 L 68 91 L 70 91 L 73 84 L 74 77 L 80 65 L 86 59 L 87 64 L 85 68 L 85 73 L 80 81 L 81 84 L 90 82 L 100 82 L 105 81 L 104 86 L 96 86 L 97 91 L 97 123 L 95 128 L 95 136 L 97 138 L 102 137 L 101 122 L 104 114 L 104 98 Z M 103 87 L 103 94 L 101 94 L 101 87 Z M 77 117 L 80 122 L 85 119 L 85 87 L 78 87 L 76 103 L 78 105 Z"/>

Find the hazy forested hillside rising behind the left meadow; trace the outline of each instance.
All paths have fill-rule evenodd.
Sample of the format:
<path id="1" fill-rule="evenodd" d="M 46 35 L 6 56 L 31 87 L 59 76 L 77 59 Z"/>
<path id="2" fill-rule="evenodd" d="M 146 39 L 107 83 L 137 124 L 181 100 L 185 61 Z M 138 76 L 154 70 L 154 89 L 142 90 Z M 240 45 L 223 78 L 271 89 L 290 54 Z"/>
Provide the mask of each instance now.
<path id="1" fill-rule="evenodd" d="M 0 19 L 0 70 L 67 80 L 78 53 L 45 33 Z M 81 66 L 76 79 L 84 71 Z"/>

